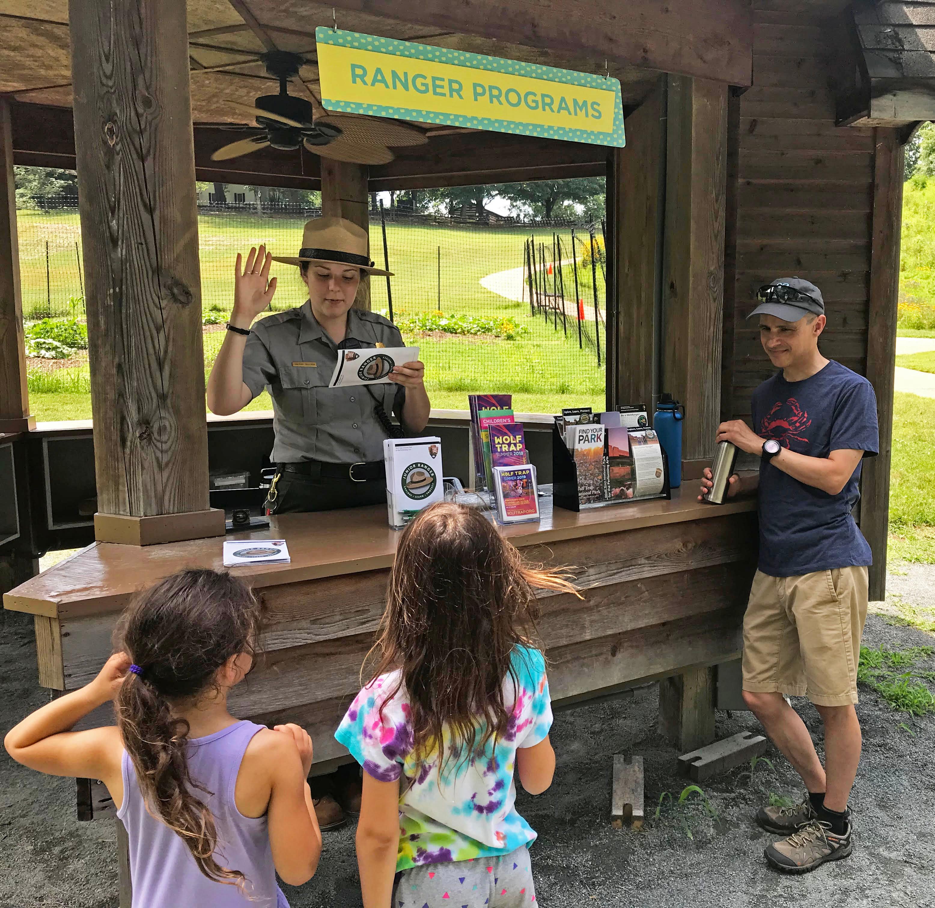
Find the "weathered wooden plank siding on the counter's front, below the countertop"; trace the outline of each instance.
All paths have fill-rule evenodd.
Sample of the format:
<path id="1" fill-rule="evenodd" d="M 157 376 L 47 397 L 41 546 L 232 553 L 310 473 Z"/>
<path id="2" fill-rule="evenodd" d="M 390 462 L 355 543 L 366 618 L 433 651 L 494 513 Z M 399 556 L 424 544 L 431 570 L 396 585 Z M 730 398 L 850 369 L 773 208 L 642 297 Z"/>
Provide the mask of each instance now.
<path id="1" fill-rule="evenodd" d="M 754 572 L 755 520 L 749 512 L 712 516 L 526 548 L 534 562 L 573 565 L 584 590 L 583 599 L 543 591 L 539 601 L 554 700 L 732 659 Z M 317 761 L 340 756 L 333 731 L 360 686 L 388 575 L 364 571 L 263 589 L 265 655 L 233 690 L 235 715 L 298 722 L 315 738 Z M 36 616 L 37 637 L 41 624 L 45 646 L 58 647 L 40 683 L 74 690 L 94 678 L 119 614 Z"/>

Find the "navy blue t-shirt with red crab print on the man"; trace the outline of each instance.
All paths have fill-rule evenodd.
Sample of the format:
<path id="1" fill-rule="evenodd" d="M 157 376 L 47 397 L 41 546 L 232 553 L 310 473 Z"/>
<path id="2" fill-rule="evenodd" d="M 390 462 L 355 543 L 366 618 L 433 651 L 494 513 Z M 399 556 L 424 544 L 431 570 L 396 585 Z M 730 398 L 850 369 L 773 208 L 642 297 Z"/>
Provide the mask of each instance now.
<path id="1" fill-rule="evenodd" d="M 832 360 L 802 381 L 786 381 L 778 372 L 754 391 L 751 406 L 754 432 L 798 454 L 879 453 L 873 386 L 840 362 Z M 870 546 L 851 515 L 860 497 L 860 467 L 837 495 L 829 495 L 761 462 L 759 569 L 764 574 L 792 577 L 870 565 Z"/>

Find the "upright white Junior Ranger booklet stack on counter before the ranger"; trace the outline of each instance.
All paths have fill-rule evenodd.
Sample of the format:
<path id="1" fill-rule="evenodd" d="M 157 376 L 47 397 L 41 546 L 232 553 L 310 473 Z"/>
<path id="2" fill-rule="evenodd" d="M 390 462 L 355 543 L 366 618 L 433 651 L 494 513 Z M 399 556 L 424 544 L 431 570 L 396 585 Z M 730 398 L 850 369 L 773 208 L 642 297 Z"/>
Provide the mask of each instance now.
<path id="1" fill-rule="evenodd" d="M 383 459 L 391 527 L 403 527 L 424 507 L 444 501 L 440 438 L 387 438 Z"/>

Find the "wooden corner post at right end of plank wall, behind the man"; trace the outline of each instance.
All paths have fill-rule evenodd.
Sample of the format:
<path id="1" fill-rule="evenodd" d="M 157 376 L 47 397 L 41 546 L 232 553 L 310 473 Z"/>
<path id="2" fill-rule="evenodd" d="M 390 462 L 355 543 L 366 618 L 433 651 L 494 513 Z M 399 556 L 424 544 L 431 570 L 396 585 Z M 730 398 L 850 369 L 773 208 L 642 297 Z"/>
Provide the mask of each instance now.
<path id="1" fill-rule="evenodd" d="M 903 146 L 897 130 L 876 131 L 873 227 L 870 245 L 870 314 L 867 377 L 876 391 L 880 453 L 864 461 L 860 530 L 873 552 L 870 600 L 886 597 L 889 531 L 889 465 L 893 450 L 896 319 L 899 299 L 899 229 L 902 222 Z"/>

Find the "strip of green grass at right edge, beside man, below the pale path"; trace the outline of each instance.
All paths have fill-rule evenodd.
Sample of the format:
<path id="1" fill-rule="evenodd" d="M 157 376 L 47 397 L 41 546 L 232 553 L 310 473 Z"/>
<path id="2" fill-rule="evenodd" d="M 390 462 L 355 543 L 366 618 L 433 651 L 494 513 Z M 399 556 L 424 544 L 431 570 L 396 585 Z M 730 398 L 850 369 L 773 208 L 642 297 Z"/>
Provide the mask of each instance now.
<path id="1" fill-rule="evenodd" d="M 935 400 L 897 391 L 889 487 L 889 555 L 935 562 Z"/>

